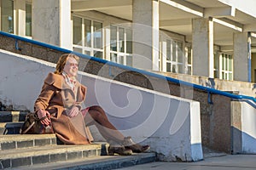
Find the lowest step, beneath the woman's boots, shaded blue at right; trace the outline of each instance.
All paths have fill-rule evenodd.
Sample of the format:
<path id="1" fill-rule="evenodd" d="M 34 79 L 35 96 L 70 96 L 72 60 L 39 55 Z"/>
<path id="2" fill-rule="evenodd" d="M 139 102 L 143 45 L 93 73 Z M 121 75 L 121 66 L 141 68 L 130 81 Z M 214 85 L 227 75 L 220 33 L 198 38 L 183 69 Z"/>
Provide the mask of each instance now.
<path id="1" fill-rule="evenodd" d="M 132 154 L 131 156 L 92 156 L 85 157 L 79 160 L 72 161 L 59 161 L 47 164 L 37 164 L 33 166 L 24 166 L 19 168 L 19 170 L 44 170 L 44 169 L 117 169 L 122 167 L 132 167 L 135 165 L 153 162 L 156 160 L 155 153 L 140 153 Z"/>

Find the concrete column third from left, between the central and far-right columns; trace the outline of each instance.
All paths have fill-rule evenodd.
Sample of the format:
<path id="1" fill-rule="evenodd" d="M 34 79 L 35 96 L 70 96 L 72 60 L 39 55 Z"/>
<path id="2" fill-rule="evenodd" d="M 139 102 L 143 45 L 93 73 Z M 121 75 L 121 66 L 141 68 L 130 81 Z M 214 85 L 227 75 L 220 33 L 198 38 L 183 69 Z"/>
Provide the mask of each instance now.
<path id="1" fill-rule="evenodd" d="M 193 75 L 214 77 L 213 22 L 192 20 Z"/>

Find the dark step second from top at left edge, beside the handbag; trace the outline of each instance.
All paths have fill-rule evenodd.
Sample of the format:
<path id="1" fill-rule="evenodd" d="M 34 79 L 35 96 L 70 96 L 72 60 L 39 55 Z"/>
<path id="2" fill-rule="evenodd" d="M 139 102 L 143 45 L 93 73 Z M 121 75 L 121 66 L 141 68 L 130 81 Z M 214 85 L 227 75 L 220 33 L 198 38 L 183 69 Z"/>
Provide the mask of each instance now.
<path id="1" fill-rule="evenodd" d="M 23 122 L 0 122 L 0 134 L 20 134 Z"/>

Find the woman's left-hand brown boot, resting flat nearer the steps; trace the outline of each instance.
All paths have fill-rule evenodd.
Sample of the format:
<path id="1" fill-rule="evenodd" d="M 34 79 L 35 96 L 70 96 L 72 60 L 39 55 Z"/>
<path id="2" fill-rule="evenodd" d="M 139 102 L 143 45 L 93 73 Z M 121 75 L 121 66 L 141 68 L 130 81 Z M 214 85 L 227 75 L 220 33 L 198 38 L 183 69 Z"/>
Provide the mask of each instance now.
<path id="1" fill-rule="evenodd" d="M 113 156 L 114 154 L 131 156 L 132 150 L 125 148 L 125 146 L 121 144 L 110 144 L 108 147 L 108 156 Z"/>

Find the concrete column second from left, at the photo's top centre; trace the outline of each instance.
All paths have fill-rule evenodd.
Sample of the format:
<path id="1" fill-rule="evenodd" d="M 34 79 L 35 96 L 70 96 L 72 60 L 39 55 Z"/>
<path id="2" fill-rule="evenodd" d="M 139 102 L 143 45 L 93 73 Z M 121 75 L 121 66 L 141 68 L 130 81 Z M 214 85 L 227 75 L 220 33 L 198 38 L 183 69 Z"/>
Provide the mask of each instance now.
<path id="1" fill-rule="evenodd" d="M 133 0 L 133 66 L 159 71 L 159 1 Z"/>

